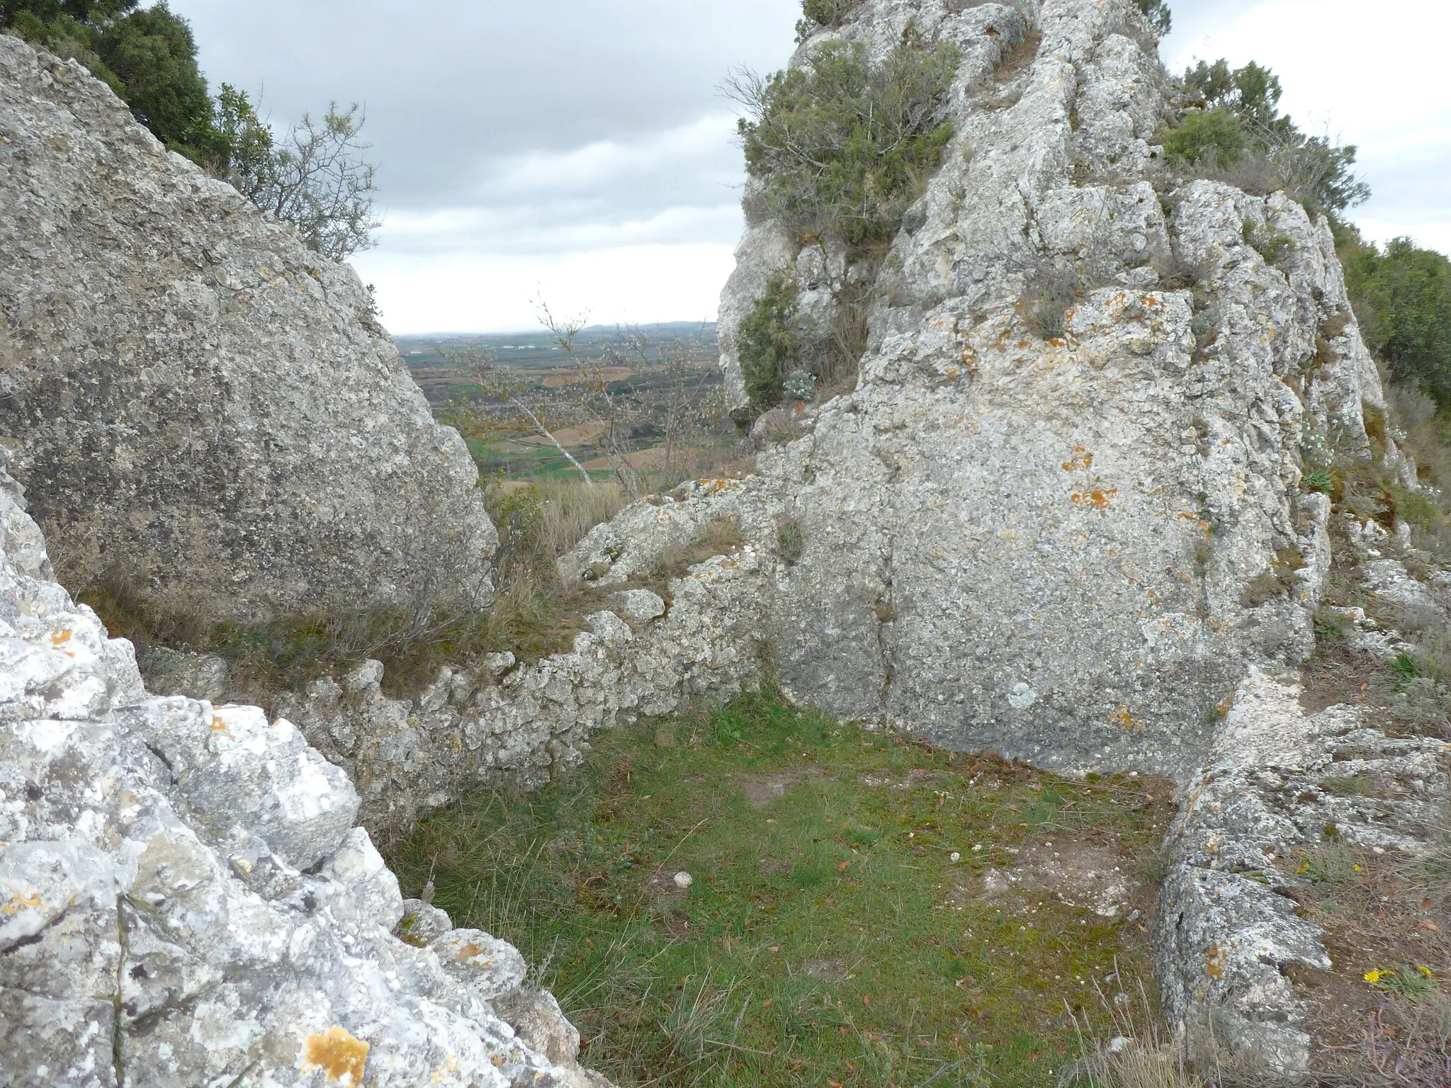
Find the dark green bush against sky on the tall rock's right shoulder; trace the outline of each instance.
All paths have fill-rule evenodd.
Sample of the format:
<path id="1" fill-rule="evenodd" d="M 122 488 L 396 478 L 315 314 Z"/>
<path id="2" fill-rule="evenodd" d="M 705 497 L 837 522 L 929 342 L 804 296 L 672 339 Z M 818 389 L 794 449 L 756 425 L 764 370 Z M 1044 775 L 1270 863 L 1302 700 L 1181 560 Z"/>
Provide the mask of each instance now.
<path id="1" fill-rule="evenodd" d="M 1184 91 L 1193 107 L 1158 136 L 1171 162 L 1251 191 L 1283 189 L 1312 212 L 1344 212 L 1370 197 L 1352 170 L 1355 148 L 1300 132 L 1280 113 L 1283 87 L 1268 68 L 1200 61 L 1184 73 Z"/>

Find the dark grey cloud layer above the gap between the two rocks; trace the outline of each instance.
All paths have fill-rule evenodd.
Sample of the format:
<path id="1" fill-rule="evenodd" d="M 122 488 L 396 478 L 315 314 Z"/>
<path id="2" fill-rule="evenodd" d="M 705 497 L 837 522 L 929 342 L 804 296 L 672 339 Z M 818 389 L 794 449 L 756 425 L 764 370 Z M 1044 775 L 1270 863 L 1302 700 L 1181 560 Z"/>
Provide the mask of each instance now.
<path id="1" fill-rule="evenodd" d="M 741 62 L 781 67 L 800 15 L 795 0 L 173 0 L 171 7 L 196 28 L 212 83 L 261 88 L 274 120 L 329 99 L 363 102 L 395 210 L 488 199 L 506 164 L 528 152 L 638 144 L 721 113 L 720 78 Z M 739 176 L 739 154 L 736 164 Z M 686 164 L 685 174 L 694 170 Z M 678 200 L 686 189 L 662 177 L 631 191 Z M 707 189 L 704 199 L 717 194 Z"/>

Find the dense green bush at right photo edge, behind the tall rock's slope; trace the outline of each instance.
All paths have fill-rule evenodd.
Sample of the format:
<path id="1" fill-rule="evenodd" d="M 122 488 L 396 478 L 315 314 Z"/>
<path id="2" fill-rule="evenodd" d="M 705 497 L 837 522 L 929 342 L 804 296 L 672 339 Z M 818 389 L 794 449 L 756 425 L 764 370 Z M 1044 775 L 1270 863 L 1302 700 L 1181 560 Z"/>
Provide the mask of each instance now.
<path id="1" fill-rule="evenodd" d="M 1451 261 L 1396 238 L 1384 250 L 1341 228 L 1345 286 L 1365 344 L 1399 382 L 1451 408 Z"/>

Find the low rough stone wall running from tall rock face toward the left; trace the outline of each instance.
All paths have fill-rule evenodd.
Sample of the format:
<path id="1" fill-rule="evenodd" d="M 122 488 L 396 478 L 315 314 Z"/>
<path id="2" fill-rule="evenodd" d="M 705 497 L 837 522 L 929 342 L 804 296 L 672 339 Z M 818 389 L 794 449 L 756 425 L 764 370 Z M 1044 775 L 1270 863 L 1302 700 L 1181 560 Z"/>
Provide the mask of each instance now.
<path id="1" fill-rule="evenodd" d="M 637 516 L 672 527 L 669 540 L 683 545 L 702 528 L 702 511 L 720 516 L 720 495 L 750 486 L 689 482 L 643 503 Z M 630 535 L 630 524 L 617 521 L 612 531 Z M 615 572 L 602 585 L 621 588 L 608 595 L 608 608 L 588 617 L 591 630 L 567 653 L 533 663 L 501 653 L 476 666 L 445 666 L 416 696 L 398 699 L 382 691 L 382 663 L 369 660 L 345 676 L 280 693 L 276 711 L 347 770 L 363 798 L 361 821 L 390 836 L 469 789 L 548 782 L 583 760 L 596 730 L 734 698 L 760 675 L 757 582 L 762 566 L 773 563 L 749 547 L 715 556 L 672 579 L 667 599 L 624 588 Z M 157 691 L 225 698 L 221 657 L 170 657 L 148 662 Z"/>

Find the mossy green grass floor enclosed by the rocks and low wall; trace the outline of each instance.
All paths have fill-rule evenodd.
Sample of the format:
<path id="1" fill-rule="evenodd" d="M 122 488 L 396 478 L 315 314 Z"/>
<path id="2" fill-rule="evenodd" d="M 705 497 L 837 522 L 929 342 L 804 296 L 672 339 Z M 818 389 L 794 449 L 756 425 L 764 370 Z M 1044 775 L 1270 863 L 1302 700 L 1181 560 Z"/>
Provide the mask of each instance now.
<path id="1" fill-rule="evenodd" d="M 389 860 L 540 965 L 622 1085 L 1026 1088 L 1077 1052 L 1071 1013 L 1138 1000 L 1151 897 L 1100 917 L 1026 859 L 1152 876 L 1170 815 L 1161 780 L 952 756 L 766 689 L 601 734 L 573 776 L 474 796 Z M 994 870 L 1019 883 L 987 894 Z"/>

